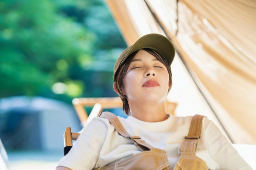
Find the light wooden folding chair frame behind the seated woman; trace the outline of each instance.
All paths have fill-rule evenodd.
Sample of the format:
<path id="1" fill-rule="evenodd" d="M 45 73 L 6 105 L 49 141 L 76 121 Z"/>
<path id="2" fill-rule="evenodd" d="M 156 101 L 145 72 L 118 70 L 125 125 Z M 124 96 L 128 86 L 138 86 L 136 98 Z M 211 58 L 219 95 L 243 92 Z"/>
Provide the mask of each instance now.
<path id="1" fill-rule="evenodd" d="M 88 97 L 88 98 L 74 98 L 72 103 L 75 107 L 76 113 L 85 127 L 93 117 L 98 116 L 103 108 L 122 108 L 122 100 L 120 97 Z M 85 110 L 85 106 L 93 106 L 89 116 Z M 175 115 L 177 103 L 165 100 L 165 111 Z M 64 155 L 66 155 L 73 146 L 73 140 L 77 140 L 79 132 L 71 132 L 71 127 L 67 127 L 64 137 Z"/>

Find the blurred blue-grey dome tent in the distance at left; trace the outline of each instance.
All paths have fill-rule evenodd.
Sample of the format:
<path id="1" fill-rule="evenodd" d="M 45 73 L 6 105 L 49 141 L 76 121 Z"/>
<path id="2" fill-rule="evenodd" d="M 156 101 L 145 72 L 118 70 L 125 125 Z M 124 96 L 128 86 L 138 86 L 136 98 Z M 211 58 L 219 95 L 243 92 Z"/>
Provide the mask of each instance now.
<path id="1" fill-rule="evenodd" d="M 0 136 L 7 151 L 59 152 L 64 147 L 65 128 L 81 129 L 72 106 L 41 96 L 0 99 L 0 124 Z"/>

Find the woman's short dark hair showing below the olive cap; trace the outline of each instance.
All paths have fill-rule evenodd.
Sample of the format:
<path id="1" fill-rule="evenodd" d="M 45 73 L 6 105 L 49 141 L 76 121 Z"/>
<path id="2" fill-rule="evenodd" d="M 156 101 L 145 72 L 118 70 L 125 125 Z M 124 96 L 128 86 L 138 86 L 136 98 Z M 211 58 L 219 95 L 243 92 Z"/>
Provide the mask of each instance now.
<path id="1" fill-rule="evenodd" d="M 167 93 L 169 93 L 169 91 L 171 89 L 171 86 L 172 86 L 172 73 L 171 73 L 171 67 L 168 65 L 167 60 L 164 57 L 161 57 L 160 54 L 157 51 L 155 51 L 154 49 L 151 49 L 151 48 L 142 48 L 142 49 L 144 49 L 145 51 L 154 55 L 167 68 L 168 73 L 169 73 L 169 89 L 168 89 Z M 131 60 L 134 58 L 134 56 L 136 55 L 137 52 L 138 52 L 138 50 L 131 53 L 127 57 L 125 62 L 122 65 L 120 65 L 119 71 L 117 72 L 117 75 L 116 75 L 116 88 L 117 88 L 117 91 L 118 91 L 118 95 L 120 96 L 120 98 L 123 101 L 123 111 L 125 111 L 125 113 L 127 115 L 130 115 L 130 107 L 129 107 L 129 103 L 128 103 L 128 100 L 127 100 L 127 96 L 122 94 L 122 89 L 124 88 L 123 80 L 125 78 L 128 67 L 131 63 Z"/>

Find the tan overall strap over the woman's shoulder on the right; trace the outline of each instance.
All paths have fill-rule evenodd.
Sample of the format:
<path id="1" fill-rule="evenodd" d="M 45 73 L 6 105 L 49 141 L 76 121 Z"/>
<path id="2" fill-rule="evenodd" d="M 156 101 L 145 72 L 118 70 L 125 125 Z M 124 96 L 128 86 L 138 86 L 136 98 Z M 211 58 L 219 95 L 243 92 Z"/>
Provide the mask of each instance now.
<path id="1" fill-rule="evenodd" d="M 180 146 L 180 155 L 195 155 L 195 150 L 200 140 L 203 117 L 204 115 L 199 114 L 193 116 L 188 134 Z"/>

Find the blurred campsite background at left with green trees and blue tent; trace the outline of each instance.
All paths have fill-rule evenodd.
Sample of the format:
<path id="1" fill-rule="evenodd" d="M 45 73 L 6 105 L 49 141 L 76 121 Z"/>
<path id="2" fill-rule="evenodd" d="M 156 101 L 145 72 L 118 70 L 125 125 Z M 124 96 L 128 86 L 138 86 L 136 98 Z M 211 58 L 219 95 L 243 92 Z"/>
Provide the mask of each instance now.
<path id="1" fill-rule="evenodd" d="M 57 165 L 65 127 L 82 128 L 72 99 L 117 96 L 125 47 L 104 0 L 0 1 L 0 138 L 11 169 Z"/>

